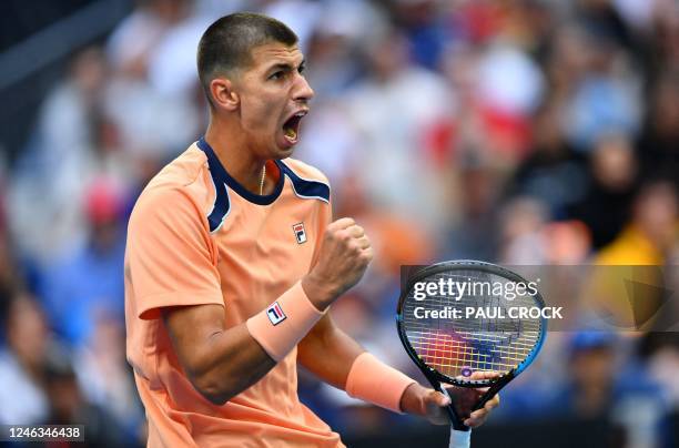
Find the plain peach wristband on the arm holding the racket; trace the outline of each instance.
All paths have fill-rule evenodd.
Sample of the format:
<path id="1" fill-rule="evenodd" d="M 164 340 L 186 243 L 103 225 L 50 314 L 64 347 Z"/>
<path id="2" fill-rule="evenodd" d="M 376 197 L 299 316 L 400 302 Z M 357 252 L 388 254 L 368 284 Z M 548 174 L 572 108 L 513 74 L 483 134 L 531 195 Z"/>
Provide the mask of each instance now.
<path id="1" fill-rule="evenodd" d="M 414 379 L 365 352 L 356 357 L 349 369 L 346 393 L 351 397 L 403 414 L 401 398 L 414 383 Z"/>

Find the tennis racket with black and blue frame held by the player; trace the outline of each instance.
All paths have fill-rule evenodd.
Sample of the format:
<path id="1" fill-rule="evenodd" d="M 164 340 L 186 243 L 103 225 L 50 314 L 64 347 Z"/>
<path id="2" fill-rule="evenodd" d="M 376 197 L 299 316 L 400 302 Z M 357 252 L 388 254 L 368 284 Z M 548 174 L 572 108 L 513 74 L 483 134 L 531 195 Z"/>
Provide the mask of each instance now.
<path id="1" fill-rule="evenodd" d="M 435 286 L 426 291 L 430 284 Z M 536 313 L 545 307 L 536 285 L 501 266 L 476 261 L 435 264 L 406 279 L 396 315 L 398 336 L 434 389 L 450 396 L 446 411 L 452 448 L 469 447 L 470 430 L 463 421 L 524 371 L 540 350 L 547 322 Z M 468 307 L 474 315 L 467 314 Z M 521 308 L 534 313 L 520 313 Z M 473 379 L 474 371 L 499 376 Z M 457 387 L 447 390 L 442 384 Z M 487 390 L 468 394 L 462 388 Z"/>

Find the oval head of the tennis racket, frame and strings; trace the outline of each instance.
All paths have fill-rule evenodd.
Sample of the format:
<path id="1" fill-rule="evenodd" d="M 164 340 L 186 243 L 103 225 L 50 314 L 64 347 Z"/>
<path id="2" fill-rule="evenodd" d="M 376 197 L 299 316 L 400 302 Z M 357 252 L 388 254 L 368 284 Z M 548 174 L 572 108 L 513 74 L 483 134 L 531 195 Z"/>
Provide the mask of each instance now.
<path id="1" fill-rule="evenodd" d="M 547 320 L 540 316 L 527 319 L 480 318 L 469 323 L 465 318 L 416 319 L 415 307 L 444 309 L 446 306 L 510 306 L 544 308 L 545 301 L 536 293 L 507 301 L 493 294 L 463 295 L 459 301 L 442 295 L 428 295 L 424 301 L 414 298 L 414 286 L 419 282 L 528 282 L 501 266 L 478 261 L 438 263 L 412 274 L 398 299 L 396 326 L 406 353 L 432 384 L 447 383 L 462 387 L 506 385 L 524 371 L 535 359 L 545 340 Z M 504 289 L 503 289 L 504 291 Z M 477 370 L 499 374 L 491 379 L 472 379 Z"/>

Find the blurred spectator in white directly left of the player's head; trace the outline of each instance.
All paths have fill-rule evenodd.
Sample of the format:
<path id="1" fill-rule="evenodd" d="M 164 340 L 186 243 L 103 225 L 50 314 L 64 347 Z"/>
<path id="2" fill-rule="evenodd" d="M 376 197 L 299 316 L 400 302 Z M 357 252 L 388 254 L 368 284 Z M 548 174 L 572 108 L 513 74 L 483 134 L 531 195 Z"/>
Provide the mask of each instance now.
<path id="1" fill-rule="evenodd" d="M 171 157 L 201 132 L 195 58 L 186 59 L 186 51 L 195 52 L 196 30 L 206 19 L 191 16 L 192 6 L 191 0 L 141 2 L 109 41 L 113 77 L 103 109 L 123 150 L 134 156 Z"/>

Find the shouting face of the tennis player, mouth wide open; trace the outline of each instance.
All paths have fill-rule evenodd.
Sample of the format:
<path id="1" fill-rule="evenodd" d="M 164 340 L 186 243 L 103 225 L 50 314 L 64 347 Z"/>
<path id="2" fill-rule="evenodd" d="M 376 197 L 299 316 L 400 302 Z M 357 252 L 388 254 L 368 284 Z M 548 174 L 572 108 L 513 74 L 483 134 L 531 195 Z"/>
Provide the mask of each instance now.
<path id="1" fill-rule="evenodd" d="M 252 64 L 234 82 L 246 141 L 264 159 L 290 156 L 300 140 L 300 121 L 314 95 L 303 69 L 296 45 L 271 42 L 252 50 Z"/>

